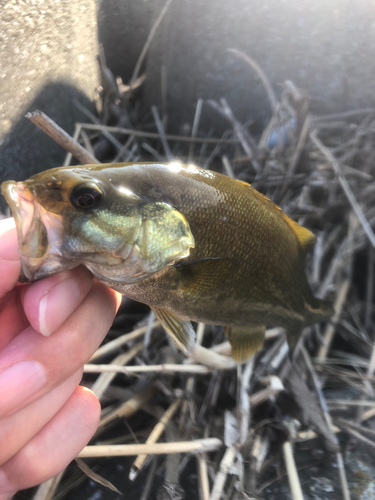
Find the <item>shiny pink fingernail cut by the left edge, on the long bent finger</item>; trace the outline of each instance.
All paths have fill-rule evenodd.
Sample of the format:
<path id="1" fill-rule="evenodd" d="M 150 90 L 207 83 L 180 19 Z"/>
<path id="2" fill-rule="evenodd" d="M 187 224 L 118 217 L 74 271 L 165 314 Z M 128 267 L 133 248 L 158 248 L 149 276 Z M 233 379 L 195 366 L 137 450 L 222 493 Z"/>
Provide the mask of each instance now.
<path id="1" fill-rule="evenodd" d="M 0 373 L 0 414 L 16 409 L 46 382 L 43 366 L 35 361 L 17 363 Z"/>

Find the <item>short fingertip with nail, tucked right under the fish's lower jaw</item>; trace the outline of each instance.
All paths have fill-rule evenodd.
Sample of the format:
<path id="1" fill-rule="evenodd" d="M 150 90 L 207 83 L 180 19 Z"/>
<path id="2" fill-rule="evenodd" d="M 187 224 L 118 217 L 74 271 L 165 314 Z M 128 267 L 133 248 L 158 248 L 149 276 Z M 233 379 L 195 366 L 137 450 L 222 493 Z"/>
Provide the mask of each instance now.
<path id="1" fill-rule="evenodd" d="M 50 335 L 77 309 L 92 285 L 92 274 L 77 267 L 27 287 L 23 306 L 31 326 L 42 335 Z"/>

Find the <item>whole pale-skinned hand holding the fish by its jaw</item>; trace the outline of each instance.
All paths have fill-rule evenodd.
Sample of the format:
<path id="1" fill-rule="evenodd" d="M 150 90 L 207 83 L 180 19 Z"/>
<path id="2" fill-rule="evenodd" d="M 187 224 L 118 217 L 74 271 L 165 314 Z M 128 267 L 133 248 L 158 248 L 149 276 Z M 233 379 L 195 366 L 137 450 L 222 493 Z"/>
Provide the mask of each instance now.
<path id="1" fill-rule="evenodd" d="M 17 248 L 0 220 L 0 500 L 59 473 L 94 434 L 100 404 L 78 384 L 121 300 L 84 268 L 17 285 Z"/>

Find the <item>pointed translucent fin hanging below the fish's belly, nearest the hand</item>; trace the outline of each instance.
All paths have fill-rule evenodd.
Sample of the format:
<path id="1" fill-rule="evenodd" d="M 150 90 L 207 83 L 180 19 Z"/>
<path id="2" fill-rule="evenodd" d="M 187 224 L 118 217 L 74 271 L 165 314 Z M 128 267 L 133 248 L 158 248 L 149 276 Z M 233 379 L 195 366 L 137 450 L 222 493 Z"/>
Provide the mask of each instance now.
<path id="1" fill-rule="evenodd" d="M 190 321 L 185 321 L 177 314 L 159 307 L 152 307 L 151 309 L 180 349 L 185 353 L 190 353 L 195 344 L 195 332 Z"/>

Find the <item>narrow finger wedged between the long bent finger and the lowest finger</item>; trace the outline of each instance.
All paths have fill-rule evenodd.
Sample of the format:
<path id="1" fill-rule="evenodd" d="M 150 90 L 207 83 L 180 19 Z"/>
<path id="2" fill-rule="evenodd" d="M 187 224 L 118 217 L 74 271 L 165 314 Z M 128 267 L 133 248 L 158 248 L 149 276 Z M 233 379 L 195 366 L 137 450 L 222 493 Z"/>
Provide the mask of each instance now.
<path id="1" fill-rule="evenodd" d="M 79 370 L 41 399 L 0 419 L 0 464 L 9 460 L 43 429 L 73 394 L 81 377 L 82 370 Z"/>

